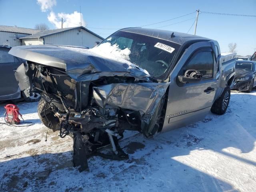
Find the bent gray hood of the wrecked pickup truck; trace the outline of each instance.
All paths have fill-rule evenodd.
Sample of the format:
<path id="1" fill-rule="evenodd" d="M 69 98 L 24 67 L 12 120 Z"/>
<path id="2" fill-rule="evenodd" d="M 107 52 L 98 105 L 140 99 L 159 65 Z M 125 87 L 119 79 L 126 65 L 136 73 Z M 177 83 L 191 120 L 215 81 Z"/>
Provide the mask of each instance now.
<path id="1" fill-rule="evenodd" d="M 9 54 L 31 62 L 63 68 L 76 81 L 95 80 L 100 76 L 149 77 L 146 70 L 122 58 L 112 60 L 86 48 L 75 46 L 16 46 Z M 103 73 L 103 74 L 102 74 Z"/>

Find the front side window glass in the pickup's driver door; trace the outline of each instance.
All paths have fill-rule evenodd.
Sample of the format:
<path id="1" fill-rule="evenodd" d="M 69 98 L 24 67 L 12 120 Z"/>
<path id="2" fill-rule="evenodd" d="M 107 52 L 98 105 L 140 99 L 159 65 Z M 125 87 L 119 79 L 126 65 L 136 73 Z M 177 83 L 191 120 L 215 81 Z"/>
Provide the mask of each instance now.
<path id="1" fill-rule="evenodd" d="M 183 73 L 186 70 L 198 70 L 202 74 L 202 78 L 212 78 L 214 68 L 214 57 L 212 51 L 197 51 L 183 66 Z"/>

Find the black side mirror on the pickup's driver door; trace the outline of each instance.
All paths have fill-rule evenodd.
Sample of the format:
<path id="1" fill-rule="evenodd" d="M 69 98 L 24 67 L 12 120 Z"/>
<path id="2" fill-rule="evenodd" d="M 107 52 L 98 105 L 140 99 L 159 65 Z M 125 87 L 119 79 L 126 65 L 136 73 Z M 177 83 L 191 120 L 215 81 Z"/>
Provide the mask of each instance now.
<path id="1" fill-rule="evenodd" d="M 196 83 L 202 80 L 202 74 L 198 70 L 186 70 L 184 76 L 178 76 L 178 80 L 180 83 Z"/>

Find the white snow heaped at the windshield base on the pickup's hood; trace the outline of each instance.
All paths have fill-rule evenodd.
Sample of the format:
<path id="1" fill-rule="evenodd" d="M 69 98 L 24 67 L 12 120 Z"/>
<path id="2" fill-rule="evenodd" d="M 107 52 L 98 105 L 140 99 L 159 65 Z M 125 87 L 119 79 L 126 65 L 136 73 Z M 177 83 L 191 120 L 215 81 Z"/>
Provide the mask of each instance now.
<path id="1" fill-rule="evenodd" d="M 94 56 L 104 57 L 104 58 L 108 58 L 118 62 L 126 63 L 129 66 L 128 69 L 140 68 L 130 62 L 130 58 L 129 58 L 129 55 L 131 54 L 130 49 L 125 48 L 121 50 L 118 44 L 111 45 L 110 42 L 106 42 L 91 49 L 76 48 L 76 47 L 64 47 L 64 48 L 72 51 L 82 52 L 82 53 L 91 54 Z M 147 70 L 144 70 L 142 68 L 140 68 L 140 70 L 143 71 L 148 76 L 150 76 Z"/>

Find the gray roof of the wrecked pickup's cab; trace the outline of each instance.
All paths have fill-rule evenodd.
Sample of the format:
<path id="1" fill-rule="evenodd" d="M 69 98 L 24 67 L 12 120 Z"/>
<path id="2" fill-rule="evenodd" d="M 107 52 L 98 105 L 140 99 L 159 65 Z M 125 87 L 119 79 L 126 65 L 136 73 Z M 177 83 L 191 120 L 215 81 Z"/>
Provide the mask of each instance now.
<path id="1" fill-rule="evenodd" d="M 196 35 L 174 32 L 174 31 L 167 31 L 167 30 L 160 30 L 160 29 L 148 29 L 148 28 L 137 28 L 136 27 L 136 28 L 124 28 L 124 29 L 121 29 L 120 31 L 132 32 L 132 33 L 142 34 L 142 35 L 146 35 L 146 36 L 152 36 L 155 38 L 178 43 L 180 45 L 182 45 L 185 42 L 190 41 L 190 40 L 199 40 L 199 41 L 211 40 L 211 39 L 196 36 Z M 171 37 L 172 33 L 174 33 L 175 37 Z"/>

